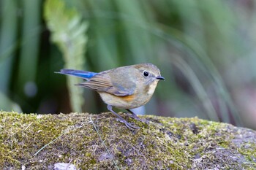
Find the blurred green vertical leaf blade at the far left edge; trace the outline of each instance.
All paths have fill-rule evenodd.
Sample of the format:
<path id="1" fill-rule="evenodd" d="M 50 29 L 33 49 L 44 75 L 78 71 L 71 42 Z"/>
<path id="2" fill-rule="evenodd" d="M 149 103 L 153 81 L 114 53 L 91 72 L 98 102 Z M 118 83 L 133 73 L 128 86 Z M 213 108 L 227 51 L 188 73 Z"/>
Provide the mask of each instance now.
<path id="1" fill-rule="evenodd" d="M 1 29 L 0 29 L 0 90 L 1 90 L 1 102 L 4 102 L 4 107 L 1 105 L 1 109 L 13 109 L 11 103 L 8 104 L 10 99 L 7 97 L 10 87 L 10 79 L 12 74 L 12 63 L 14 61 L 13 44 L 17 39 L 17 18 L 15 11 L 17 4 L 15 1 L 4 0 L 0 5 L 1 12 Z"/>

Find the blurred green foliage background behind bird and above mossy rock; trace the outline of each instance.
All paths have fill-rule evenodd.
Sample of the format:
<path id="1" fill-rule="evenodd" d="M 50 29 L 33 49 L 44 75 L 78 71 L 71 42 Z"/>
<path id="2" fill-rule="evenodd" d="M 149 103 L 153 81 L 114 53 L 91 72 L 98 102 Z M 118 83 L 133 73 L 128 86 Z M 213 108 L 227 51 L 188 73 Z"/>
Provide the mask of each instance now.
<path id="1" fill-rule="evenodd" d="M 62 68 L 154 63 L 146 114 L 256 129 L 256 1 L 1 0 L 0 109 L 105 112 Z"/>

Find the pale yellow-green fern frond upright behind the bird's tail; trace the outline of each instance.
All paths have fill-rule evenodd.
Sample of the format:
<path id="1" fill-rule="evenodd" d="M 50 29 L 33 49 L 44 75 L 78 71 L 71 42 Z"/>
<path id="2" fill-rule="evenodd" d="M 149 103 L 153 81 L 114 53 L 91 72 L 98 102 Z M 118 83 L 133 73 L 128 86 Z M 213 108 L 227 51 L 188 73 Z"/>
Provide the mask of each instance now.
<path id="1" fill-rule="evenodd" d="M 64 1 L 45 1 L 45 20 L 51 31 L 51 39 L 63 53 L 65 68 L 83 69 L 86 52 L 86 29 L 88 24 L 82 20 L 75 9 L 67 9 Z M 67 77 L 72 109 L 82 112 L 83 89 L 74 88 L 79 80 Z"/>

